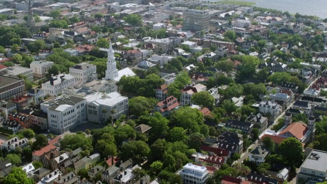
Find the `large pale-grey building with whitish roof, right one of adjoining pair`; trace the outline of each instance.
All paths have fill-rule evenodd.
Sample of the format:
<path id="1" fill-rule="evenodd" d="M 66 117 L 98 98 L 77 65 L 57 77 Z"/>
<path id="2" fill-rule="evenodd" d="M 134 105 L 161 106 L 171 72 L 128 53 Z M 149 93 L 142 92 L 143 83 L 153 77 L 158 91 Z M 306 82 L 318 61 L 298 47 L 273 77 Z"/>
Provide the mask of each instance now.
<path id="1" fill-rule="evenodd" d="M 105 123 L 109 116 L 113 119 L 121 115 L 128 115 L 128 98 L 117 92 L 109 94 L 95 93 L 85 97 L 87 101 L 87 119 L 90 122 Z M 103 113 L 102 109 L 107 112 Z M 114 113 L 111 113 L 114 110 Z"/>

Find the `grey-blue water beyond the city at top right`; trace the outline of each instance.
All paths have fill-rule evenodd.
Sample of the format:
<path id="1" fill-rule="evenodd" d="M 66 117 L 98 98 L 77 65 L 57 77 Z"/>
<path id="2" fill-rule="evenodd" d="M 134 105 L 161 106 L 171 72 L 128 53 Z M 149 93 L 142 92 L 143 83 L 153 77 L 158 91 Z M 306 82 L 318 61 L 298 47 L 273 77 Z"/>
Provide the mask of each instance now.
<path id="1" fill-rule="evenodd" d="M 219 2 L 219 0 L 209 0 Z M 327 0 L 238 0 L 254 2 L 256 7 L 288 11 L 291 14 L 298 12 L 301 15 L 315 15 L 327 18 Z"/>

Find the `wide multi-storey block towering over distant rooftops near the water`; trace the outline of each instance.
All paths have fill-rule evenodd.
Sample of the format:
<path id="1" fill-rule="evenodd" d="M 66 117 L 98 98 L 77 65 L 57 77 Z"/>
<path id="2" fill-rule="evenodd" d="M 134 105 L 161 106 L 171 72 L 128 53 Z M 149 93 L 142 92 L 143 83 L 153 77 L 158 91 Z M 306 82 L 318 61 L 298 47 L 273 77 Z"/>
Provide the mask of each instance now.
<path id="1" fill-rule="evenodd" d="M 205 10 L 183 11 L 183 30 L 206 31 L 209 29 L 209 13 Z"/>

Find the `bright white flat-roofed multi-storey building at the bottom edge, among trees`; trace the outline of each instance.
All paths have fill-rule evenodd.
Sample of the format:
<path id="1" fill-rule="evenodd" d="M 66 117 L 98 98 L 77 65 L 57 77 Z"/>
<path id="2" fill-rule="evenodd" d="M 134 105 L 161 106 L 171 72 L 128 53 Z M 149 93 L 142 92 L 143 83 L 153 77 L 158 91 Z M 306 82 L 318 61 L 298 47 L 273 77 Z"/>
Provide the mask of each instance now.
<path id="1" fill-rule="evenodd" d="M 183 166 L 179 175 L 184 184 L 205 184 L 208 179 L 208 171 L 205 166 L 197 166 L 191 163 Z"/>

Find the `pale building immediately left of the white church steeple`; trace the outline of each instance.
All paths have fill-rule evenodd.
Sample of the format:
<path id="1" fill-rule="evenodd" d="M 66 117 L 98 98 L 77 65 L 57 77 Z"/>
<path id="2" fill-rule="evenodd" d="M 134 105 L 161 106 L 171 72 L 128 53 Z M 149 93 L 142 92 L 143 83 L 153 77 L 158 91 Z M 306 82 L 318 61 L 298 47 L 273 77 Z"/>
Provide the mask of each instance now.
<path id="1" fill-rule="evenodd" d="M 82 62 L 69 67 L 69 74 L 74 76 L 77 81 L 94 81 L 98 79 L 97 66 Z"/>

